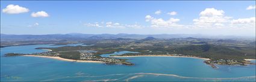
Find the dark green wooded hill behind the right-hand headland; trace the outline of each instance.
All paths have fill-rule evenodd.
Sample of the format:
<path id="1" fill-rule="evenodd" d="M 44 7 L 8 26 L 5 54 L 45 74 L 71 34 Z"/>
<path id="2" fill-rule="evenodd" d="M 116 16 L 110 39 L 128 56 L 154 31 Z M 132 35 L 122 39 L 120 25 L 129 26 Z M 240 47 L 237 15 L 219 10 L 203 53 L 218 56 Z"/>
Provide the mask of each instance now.
<path id="1" fill-rule="evenodd" d="M 255 49 L 255 48 L 254 48 Z M 250 53 L 255 51 L 241 51 L 233 48 L 222 47 L 219 45 L 189 45 L 186 47 L 175 48 L 173 51 L 175 53 L 181 54 L 193 54 L 201 57 L 211 57 L 212 59 L 246 59 L 248 57 L 254 57 L 255 53 Z M 246 54 L 246 55 L 245 55 Z"/>

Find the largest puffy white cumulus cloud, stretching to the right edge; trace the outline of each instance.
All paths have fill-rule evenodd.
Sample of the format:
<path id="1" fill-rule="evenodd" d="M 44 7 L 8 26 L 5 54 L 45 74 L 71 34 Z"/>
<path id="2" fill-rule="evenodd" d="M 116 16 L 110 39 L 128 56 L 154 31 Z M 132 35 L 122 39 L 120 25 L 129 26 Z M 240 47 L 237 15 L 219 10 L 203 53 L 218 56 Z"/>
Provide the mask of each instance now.
<path id="1" fill-rule="evenodd" d="M 233 19 L 225 16 L 223 10 L 206 8 L 201 11 L 198 19 L 193 19 L 193 28 L 226 28 L 226 29 L 255 29 L 255 17 Z"/>

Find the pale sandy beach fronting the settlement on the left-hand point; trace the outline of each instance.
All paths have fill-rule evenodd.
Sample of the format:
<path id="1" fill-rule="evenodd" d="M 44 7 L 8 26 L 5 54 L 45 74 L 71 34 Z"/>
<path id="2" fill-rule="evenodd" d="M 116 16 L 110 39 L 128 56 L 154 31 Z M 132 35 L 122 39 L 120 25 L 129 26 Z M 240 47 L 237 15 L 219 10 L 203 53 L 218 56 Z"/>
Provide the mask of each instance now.
<path id="1" fill-rule="evenodd" d="M 36 56 L 36 55 L 23 55 L 23 56 L 31 56 L 31 57 L 46 57 L 46 58 L 57 59 L 57 60 L 63 60 L 63 61 L 68 61 L 68 62 L 92 62 L 92 63 L 104 63 L 104 62 L 101 62 L 101 61 L 93 61 L 93 60 L 73 60 L 73 59 L 64 59 L 64 58 L 57 57 L 57 56 Z"/>

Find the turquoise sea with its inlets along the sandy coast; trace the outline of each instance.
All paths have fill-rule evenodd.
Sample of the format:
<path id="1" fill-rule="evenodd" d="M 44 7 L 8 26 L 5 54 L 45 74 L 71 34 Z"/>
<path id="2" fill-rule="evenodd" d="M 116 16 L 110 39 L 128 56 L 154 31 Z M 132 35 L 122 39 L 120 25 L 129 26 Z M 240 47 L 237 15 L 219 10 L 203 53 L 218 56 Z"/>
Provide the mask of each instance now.
<path id="1" fill-rule="evenodd" d="M 43 57 L 2 57 L 6 53 L 36 53 L 36 47 L 1 48 L 1 81 L 255 81 L 255 65 L 217 65 L 188 57 L 123 57 L 134 66 L 66 62 Z M 119 51 L 114 54 L 130 53 Z M 102 56 L 109 56 L 104 54 Z M 254 60 L 255 62 L 255 60 Z"/>

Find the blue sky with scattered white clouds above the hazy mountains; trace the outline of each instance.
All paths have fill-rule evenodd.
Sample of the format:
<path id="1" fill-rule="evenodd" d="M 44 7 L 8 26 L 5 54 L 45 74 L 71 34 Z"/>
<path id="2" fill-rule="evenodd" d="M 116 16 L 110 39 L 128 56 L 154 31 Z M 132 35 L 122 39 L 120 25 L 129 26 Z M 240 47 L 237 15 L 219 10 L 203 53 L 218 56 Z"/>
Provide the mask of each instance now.
<path id="1" fill-rule="evenodd" d="M 1 34 L 255 36 L 255 1 L 1 1 Z"/>

